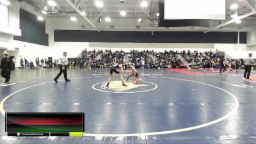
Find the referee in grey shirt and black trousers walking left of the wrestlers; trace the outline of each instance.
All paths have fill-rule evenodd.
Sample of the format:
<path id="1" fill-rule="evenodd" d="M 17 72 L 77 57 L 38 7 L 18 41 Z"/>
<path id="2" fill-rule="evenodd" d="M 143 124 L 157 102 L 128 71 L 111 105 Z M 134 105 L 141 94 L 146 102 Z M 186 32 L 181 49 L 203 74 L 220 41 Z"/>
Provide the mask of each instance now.
<path id="1" fill-rule="evenodd" d="M 67 77 L 67 64 L 68 64 L 68 60 L 67 60 L 67 52 L 63 52 L 63 57 L 60 58 L 60 72 L 59 74 L 54 78 L 54 81 L 56 83 L 58 83 L 58 78 L 61 76 L 61 74 L 64 74 L 64 78 L 65 81 L 70 81 L 70 79 L 68 79 Z"/>

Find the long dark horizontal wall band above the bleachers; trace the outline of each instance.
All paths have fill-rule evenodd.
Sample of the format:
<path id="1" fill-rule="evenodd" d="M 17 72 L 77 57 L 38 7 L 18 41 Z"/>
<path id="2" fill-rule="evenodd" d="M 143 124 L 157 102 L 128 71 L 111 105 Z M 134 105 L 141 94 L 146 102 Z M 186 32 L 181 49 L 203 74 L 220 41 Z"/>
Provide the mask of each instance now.
<path id="1" fill-rule="evenodd" d="M 54 42 L 128 42 L 128 43 L 206 43 L 237 44 L 236 32 L 185 31 L 83 31 L 54 30 Z M 240 44 L 246 44 L 246 33 L 240 33 Z"/>

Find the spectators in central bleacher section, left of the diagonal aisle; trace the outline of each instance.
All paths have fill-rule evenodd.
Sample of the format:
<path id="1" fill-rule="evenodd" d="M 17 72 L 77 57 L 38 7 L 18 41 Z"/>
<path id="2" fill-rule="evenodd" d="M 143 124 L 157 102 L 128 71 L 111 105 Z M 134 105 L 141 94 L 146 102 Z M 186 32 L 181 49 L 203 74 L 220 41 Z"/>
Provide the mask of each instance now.
<path id="1" fill-rule="evenodd" d="M 88 51 L 84 58 L 72 61 L 72 67 L 85 68 L 109 68 L 114 61 L 129 67 L 133 65 L 136 68 L 176 68 L 184 67 L 184 63 L 177 58 L 173 51 Z"/>

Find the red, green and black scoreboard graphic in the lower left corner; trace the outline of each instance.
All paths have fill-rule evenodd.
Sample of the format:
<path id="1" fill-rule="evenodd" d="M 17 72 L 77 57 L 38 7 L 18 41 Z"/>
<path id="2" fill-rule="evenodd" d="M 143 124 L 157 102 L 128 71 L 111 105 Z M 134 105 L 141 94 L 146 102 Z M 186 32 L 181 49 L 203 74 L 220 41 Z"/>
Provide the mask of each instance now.
<path id="1" fill-rule="evenodd" d="M 7 136 L 83 136 L 84 113 L 6 113 Z"/>

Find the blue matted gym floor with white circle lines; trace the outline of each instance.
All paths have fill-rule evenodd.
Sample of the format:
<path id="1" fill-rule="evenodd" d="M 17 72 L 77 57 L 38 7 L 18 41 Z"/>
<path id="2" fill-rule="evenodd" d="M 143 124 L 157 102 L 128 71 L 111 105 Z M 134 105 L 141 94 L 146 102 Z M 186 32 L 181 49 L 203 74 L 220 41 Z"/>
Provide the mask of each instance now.
<path id="1" fill-rule="evenodd" d="M 138 69 L 143 83 L 121 90 L 104 87 L 108 69 L 70 69 L 70 82 L 61 76 L 54 83 L 58 71 L 16 69 L 11 83 L 0 85 L 0 143 L 256 141 L 256 81 L 243 80 L 243 71 L 220 75 L 218 70 Z M 251 75 L 255 79 L 256 73 Z M 111 84 L 118 83 L 115 75 Z M 7 137 L 4 111 L 84 112 L 84 136 Z"/>

